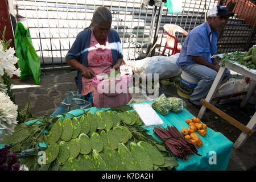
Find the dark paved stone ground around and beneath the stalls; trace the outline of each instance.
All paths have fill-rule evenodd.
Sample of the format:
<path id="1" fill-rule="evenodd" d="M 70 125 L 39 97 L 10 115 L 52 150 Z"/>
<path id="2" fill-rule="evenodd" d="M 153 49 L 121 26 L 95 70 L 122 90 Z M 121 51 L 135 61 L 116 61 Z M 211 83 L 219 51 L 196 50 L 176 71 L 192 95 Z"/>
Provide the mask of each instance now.
<path id="1" fill-rule="evenodd" d="M 44 114 L 52 114 L 53 111 L 60 105 L 63 99 L 67 96 L 68 91 L 76 92 L 77 88 L 74 82 L 76 71 L 48 71 L 43 72 L 40 78 L 40 85 L 35 85 L 31 80 L 20 80 L 19 78 L 12 79 L 14 84 L 13 92 L 16 99 L 16 104 L 19 109 L 22 109 L 27 104 L 31 97 L 31 113 L 34 116 L 42 116 Z M 175 87 L 160 86 L 159 94 L 164 93 L 167 97 L 179 97 Z M 197 115 L 199 109 L 184 99 L 187 103 L 187 110 Z M 218 106 L 218 105 L 217 105 Z M 247 104 L 245 108 L 240 109 L 239 102 L 233 104 L 219 105 L 222 110 L 226 111 L 233 118 L 247 125 L 250 117 L 255 112 L 255 105 Z M 233 125 L 226 122 L 221 122 L 218 115 L 207 110 L 202 121 L 216 132 L 225 135 L 226 138 L 235 142 L 241 131 Z M 246 141 L 245 144 L 236 150 L 233 148 L 232 155 L 227 170 L 230 171 L 246 171 L 256 169 L 256 140 L 255 133 Z"/>

